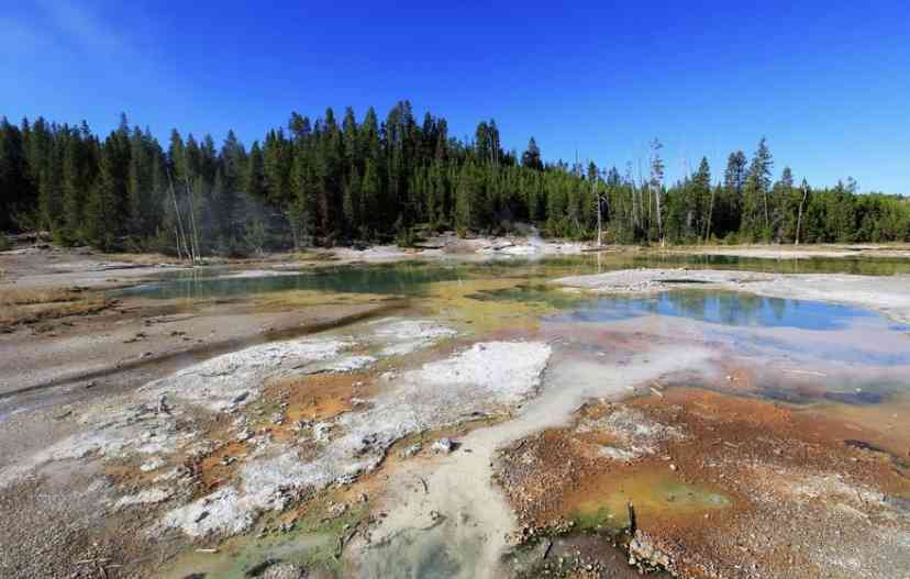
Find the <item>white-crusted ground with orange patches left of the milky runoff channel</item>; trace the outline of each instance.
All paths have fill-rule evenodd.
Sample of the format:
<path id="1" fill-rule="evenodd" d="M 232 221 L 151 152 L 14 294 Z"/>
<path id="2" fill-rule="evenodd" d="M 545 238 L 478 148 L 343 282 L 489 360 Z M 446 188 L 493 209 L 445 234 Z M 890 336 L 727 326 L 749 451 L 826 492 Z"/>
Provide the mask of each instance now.
<path id="1" fill-rule="evenodd" d="M 47 445 L 4 457 L 0 536 L 13 547 L 0 566 L 11 576 L 68 577 L 75 555 L 48 549 L 67 539 L 73 548 L 100 545 L 100 558 L 143 575 L 160 561 L 124 557 L 167 557 L 254 525 L 290 528 L 295 513 L 309 508 L 306 498 L 368 477 L 397 442 L 508 412 L 533 393 L 550 356 L 545 344 L 491 342 L 412 369 L 393 366 L 402 352 L 453 337 L 454 330 L 429 321 L 382 319 L 355 335 L 223 354 L 131 392 L 57 407 L 56 417 L 31 413 L 67 427 Z M 53 514 L 42 506 L 49 496 L 68 493 L 73 535 L 47 528 L 35 541 L 14 539 L 35 511 Z M 133 533 L 124 536 L 120 521 L 131 513 Z M 160 536 L 168 543 L 153 546 Z"/>

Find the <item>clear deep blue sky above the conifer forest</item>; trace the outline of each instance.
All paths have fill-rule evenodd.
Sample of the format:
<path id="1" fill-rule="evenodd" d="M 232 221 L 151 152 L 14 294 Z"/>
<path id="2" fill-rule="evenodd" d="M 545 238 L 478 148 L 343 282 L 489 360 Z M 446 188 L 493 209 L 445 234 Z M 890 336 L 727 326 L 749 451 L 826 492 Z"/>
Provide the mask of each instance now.
<path id="1" fill-rule="evenodd" d="M 776 174 L 910 194 L 910 3 L 0 0 L 0 115 L 121 111 L 245 144 L 290 111 L 384 116 L 409 99 L 457 136 L 668 177 L 767 136 Z M 441 4 L 441 3 L 440 3 Z"/>

